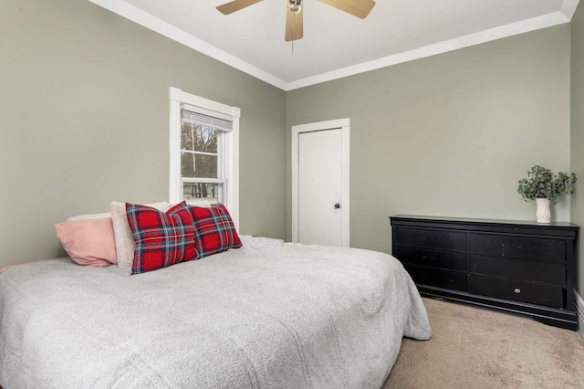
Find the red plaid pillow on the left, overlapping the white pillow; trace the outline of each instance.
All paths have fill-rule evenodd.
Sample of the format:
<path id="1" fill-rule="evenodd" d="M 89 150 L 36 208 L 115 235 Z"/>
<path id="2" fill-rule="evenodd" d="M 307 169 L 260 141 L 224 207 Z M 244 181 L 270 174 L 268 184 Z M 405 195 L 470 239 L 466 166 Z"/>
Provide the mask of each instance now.
<path id="1" fill-rule="evenodd" d="M 193 217 L 184 202 L 166 213 L 150 206 L 126 203 L 126 215 L 136 242 L 132 274 L 195 258 Z"/>

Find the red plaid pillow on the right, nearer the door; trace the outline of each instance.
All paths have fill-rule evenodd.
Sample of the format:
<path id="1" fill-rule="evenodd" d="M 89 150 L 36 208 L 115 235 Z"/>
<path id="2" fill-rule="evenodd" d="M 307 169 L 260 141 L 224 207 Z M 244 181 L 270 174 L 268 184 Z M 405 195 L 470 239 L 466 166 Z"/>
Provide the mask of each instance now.
<path id="1" fill-rule="evenodd" d="M 191 206 L 197 259 L 241 247 L 229 212 L 222 204 L 211 208 Z"/>

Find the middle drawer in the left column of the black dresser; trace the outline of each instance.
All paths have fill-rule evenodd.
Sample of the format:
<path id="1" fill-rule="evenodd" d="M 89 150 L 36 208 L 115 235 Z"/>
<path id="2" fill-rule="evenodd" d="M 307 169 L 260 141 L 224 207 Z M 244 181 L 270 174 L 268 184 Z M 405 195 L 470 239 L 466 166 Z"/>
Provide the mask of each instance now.
<path id="1" fill-rule="evenodd" d="M 466 255 L 464 253 L 396 246 L 392 254 L 402 263 L 466 271 Z"/>

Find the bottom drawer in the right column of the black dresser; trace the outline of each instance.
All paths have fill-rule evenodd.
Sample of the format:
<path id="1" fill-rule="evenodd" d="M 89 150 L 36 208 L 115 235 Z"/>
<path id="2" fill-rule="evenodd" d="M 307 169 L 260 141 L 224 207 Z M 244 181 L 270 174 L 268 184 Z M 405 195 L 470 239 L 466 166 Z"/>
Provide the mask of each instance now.
<path id="1" fill-rule="evenodd" d="M 547 307 L 564 307 L 564 289 L 549 284 L 469 275 L 468 292 Z"/>

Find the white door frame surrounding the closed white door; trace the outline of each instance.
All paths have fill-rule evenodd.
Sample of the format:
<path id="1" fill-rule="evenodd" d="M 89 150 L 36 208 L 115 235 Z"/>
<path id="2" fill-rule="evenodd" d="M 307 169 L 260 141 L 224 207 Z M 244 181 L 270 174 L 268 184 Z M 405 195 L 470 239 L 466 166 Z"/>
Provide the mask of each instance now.
<path id="1" fill-rule="evenodd" d="M 342 136 L 342 166 L 341 166 L 341 247 L 350 247 L 349 242 L 349 155 L 350 155 L 350 121 L 349 118 L 333 121 L 318 121 L 315 123 L 292 126 L 292 242 L 298 242 L 298 141 L 300 133 L 311 131 L 341 130 Z"/>

